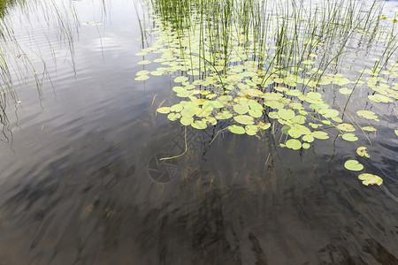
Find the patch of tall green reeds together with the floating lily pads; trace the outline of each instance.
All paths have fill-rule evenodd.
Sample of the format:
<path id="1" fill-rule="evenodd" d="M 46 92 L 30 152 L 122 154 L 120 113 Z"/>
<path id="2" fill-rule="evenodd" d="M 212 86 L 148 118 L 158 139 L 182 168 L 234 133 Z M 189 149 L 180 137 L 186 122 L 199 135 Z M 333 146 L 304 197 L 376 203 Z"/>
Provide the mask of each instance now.
<path id="1" fill-rule="evenodd" d="M 271 130 L 274 138 L 280 132 L 280 147 L 294 150 L 332 135 L 356 141 L 362 133 L 371 143 L 378 114 L 348 105 L 398 99 L 396 19 L 382 3 L 152 0 L 146 7 L 150 19 L 140 26 L 148 46 L 136 54 L 143 69 L 135 79 L 179 73 L 172 90 L 180 101 L 162 102 L 157 112 L 181 125 L 258 138 Z M 162 66 L 146 70 L 152 63 Z M 364 169 L 356 160 L 345 167 Z"/>

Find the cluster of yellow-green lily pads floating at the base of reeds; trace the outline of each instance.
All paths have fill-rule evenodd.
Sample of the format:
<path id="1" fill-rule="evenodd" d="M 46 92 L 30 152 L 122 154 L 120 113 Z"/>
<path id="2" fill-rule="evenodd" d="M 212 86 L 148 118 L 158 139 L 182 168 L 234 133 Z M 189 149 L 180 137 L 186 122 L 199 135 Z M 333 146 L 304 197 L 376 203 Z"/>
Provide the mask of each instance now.
<path id="1" fill-rule="evenodd" d="M 272 38 L 268 46 L 256 45 L 254 34 L 241 33 L 239 20 L 230 25 L 237 31 L 231 31 L 227 41 L 223 36 L 215 42 L 209 24 L 203 25 L 203 20 L 207 19 L 203 19 L 205 15 L 190 10 L 189 16 L 191 24 L 181 29 L 152 14 L 151 22 L 155 27 L 151 33 L 157 36 L 156 41 L 136 54 L 143 57 L 138 64 L 144 68 L 146 64 L 161 64 L 154 71 L 137 72 L 135 79 L 138 81 L 149 79 L 150 75 L 180 73 L 173 79 L 175 86 L 172 87 L 180 101 L 171 106 L 159 106 L 157 112 L 167 114 L 171 121 L 180 121 L 181 125 L 203 130 L 221 124 L 231 133 L 259 137 L 276 120 L 281 132 L 286 134 L 280 146 L 298 150 L 310 148 L 315 139 L 328 139 L 331 133 L 326 129 L 331 127 L 347 141 L 358 140 L 356 130 L 377 131 L 373 125 L 358 127 L 343 121 L 344 111 L 332 109 L 325 102 L 322 89 L 338 87 L 341 96 L 348 101 L 357 87 L 366 86 L 372 90 L 368 99 L 374 103 L 393 103 L 398 99 L 398 83 L 390 86 L 383 78 L 398 77 L 398 62 L 361 71 L 361 79 L 348 79 L 341 73 L 328 71 L 330 67 L 327 66 L 333 62 L 325 64 L 325 55 L 317 60 L 316 50 L 322 42 L 302 40 L 303 50 L 284 54 L 280 46 L 272 46 L 275 44 Z M 201 19 L 197 19 L 199 17 Z M 269 34 L 275 31 L 270 29 Z M 259 52 L 259 47 L 266 51 Z M 323 47 L 323 50 L 327 52 L 329 48 Z M 145 58 L 153 54 L 158 55 L 154 60 Z M 321 64 L 326 67 L 320 69 Z M 379 121 L 371 110 L 358 110 L 356 116 Z M 397 132 L 398 129 L 395 130 L 398 135 Z M 364 150 L 358 151 L 358 155 L 367 154 Z M 361 166 L 356 160 L 345 163 L 348 170 L 362 170 Z M 378 176 L 367 173 L 359 178 L 364 180 L 364 185 L 382 182 Z"/>

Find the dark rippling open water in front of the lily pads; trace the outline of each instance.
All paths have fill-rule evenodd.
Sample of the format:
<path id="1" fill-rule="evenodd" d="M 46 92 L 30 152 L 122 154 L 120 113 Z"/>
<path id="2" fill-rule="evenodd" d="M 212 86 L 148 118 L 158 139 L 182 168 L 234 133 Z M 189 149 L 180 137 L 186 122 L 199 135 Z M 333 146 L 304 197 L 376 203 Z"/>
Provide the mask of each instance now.
<path id="1" fill-rule="evenodd" d="M 156 115 L 173 84 L 134 81 L 134 2 L 73 6 L 80 21 L 69 4 L 64 23 L 36 19 L 34 4 L 9 15 L 49 75 L 37 86 L 27 74 L 2 102 L 0 264 L 398 264 L 395 102 L 363 161 L 384 184 L 363 186 L 341 138 L 292 151 L 272 133 L 184 131 Z"/>

